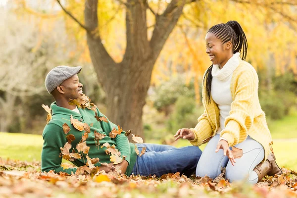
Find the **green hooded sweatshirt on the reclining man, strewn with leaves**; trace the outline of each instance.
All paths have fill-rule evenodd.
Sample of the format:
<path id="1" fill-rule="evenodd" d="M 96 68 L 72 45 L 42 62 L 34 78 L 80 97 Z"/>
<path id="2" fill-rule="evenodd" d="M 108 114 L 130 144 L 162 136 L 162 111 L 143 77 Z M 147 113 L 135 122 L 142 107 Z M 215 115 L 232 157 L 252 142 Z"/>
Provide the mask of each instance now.
<path id="1" fill-rule="evenodd" d="M 88 108 L 82 109 L 79 108 L 80 113 L 77 113 L 73 110 L 63 108 L 56 105 L 56 102 L 51 103 L 50 105 L 52 109 L 52 118 L 49 123 L 45 126 L 43 131 L 43 139 L 44 144 L 41 153 L 41 170 L 42 171 L 50 171 L 54 172 L 66 172 L 71 174 L 71 172 L 75 173 L 77 168 L 68 168 L 64 169 L 61 167 L 62 158 L 59 157 L 59 153 L 61 152 L 60 148 L 63 148 L 66 140 L 66 134 L 63 132 L 62 125 L 66 123 L 70 127 L 70 132 L 68 134 L 73 134 L 75 136 L 75 140 L 71 143 L 72 148 L 70 152 L 74 148 L 75 152 L 78 152 L 76 149 L 77 144 L 81 141 L 82 135 L 85 131 L 79 131 L 73 127 L 70 123 L 70 116 L 78 119 L 80 122 L 87 123 L 89 126 L 93 124 L 91 128 L 91 133 L 89 133 L 89 137 L 87 138 L 87 146 L 90 147 L 89 157 L 90 158 L 99 158 L 100 163 L 110 163 L 110 156 L 105 153 L 105 147 L 101 148 L 104 143 L 109 143 L 110 146 L 115 145 L 115 147 L 121 152 L 121 156 L 126 156 L 125 160 L 128 161 L 129 165 L 127 167 L 126 175 L 131 175 L 133 171 L 134 164 L 136 162 L 137 154 L 135 152 L 134 144 L 129 143 L 128 138 L 125 136 L 125 132 L 122 132 L 120 135 L 117 135 L 116 138 L 110 138 L 109 132 L 118 127 L 111 123 L 108 120 L 108 123 L 103 121 L 97 121 L 95 118 L 95 112 Z M 97 108 L 98 116 L 104 116 L 100 113 Z M 105 117 L 105 116 L 104 116 Z M 106 135 L 102 140 L 99 141 L 99 147 L 96 146 L 94 131 L 97 131 L 101 134 Z M 67 135 L 68 135 L 67 134 Z M 81 154 L 81 153 L 80 153 Z M 81 159 L 76 159 L 72 163 L 76 166 L 83 166 L 87 162 L 86 154 L 83 154 Z M 100 166 L 101 164 L 97 163 L 95 166 Z"/>

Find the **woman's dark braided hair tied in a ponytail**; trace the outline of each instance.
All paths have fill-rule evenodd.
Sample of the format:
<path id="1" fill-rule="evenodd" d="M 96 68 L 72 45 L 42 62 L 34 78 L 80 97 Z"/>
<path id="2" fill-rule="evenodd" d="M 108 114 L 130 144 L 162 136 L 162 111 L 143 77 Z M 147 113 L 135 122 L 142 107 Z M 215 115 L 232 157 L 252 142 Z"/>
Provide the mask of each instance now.
<path id="1" fill-rule="evenodd" d="M 222 44 L 231 41 L 233 44 L 233 53 L 240 52 L 243 60 L 247 57 L 247 37 L 244 30 L 237 21 L 228 21 L 227 23 L 220 23 L 212 26 L 209 33 L 214 34 L 218 39 L 222 41 Z M 207 32 L 207 33 L 208 33 Z M 212 65 L 207 69 L 204 79 L 206 80 L 206 101 L 210 103 L 210 91 L 211 91 L 211 75 Z"/>

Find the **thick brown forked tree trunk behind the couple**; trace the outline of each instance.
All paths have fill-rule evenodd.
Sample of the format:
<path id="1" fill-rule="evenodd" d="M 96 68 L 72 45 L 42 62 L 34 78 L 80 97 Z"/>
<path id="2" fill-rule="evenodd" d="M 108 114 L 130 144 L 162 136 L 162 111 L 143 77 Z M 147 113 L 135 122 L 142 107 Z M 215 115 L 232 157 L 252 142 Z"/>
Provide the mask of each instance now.
<path id="1" fill-rule="evenodd" d="M 154 63 L 176 25 L 186 0 L 172 0 L 148 41 L 146 0 L 127 0 L 127 46 L 120 63 L 114 62 L 98 34 L 98 0 L 86 0 L 85 25 L 93 66 L 107 98 L 107 117 L 123 130 L 143 136 L 143 107 Z M 96 34 L 97 33 L 97 34 Z"/>

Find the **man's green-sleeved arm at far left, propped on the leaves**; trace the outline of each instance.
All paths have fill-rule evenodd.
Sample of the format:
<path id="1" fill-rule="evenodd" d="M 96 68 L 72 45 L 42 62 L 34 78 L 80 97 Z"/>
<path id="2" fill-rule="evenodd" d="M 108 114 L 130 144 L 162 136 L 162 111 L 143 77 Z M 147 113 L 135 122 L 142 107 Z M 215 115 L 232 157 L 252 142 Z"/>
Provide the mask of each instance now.
<path id="1" fill-rule="evenodd" d="M 49 123 L 43 132 L 44 144 L 41 152 L 41 170 L 49 172 L 75 173 L 76 168 L 64 169 L 61 167 L 62 158 L 59 157 L 60 148 L 64 147 L 66 138 L 61 127 Z"/>

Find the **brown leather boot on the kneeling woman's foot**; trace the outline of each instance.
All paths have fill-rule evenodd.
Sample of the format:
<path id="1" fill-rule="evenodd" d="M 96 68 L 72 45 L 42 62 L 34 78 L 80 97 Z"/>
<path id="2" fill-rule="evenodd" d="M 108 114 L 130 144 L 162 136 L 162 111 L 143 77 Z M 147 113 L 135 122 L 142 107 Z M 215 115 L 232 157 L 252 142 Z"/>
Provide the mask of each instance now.
<path id="1" fill-rule="evenodd" d="M 268 176 L 273 176 L 275 174 L 283 174 L 282 169 L 277 165 L 275 161 L 275 156 L 270 153 L 264 162 L 259 163 L 253 169 L 258 175 L 258 182 L 267 174 Z"/>

